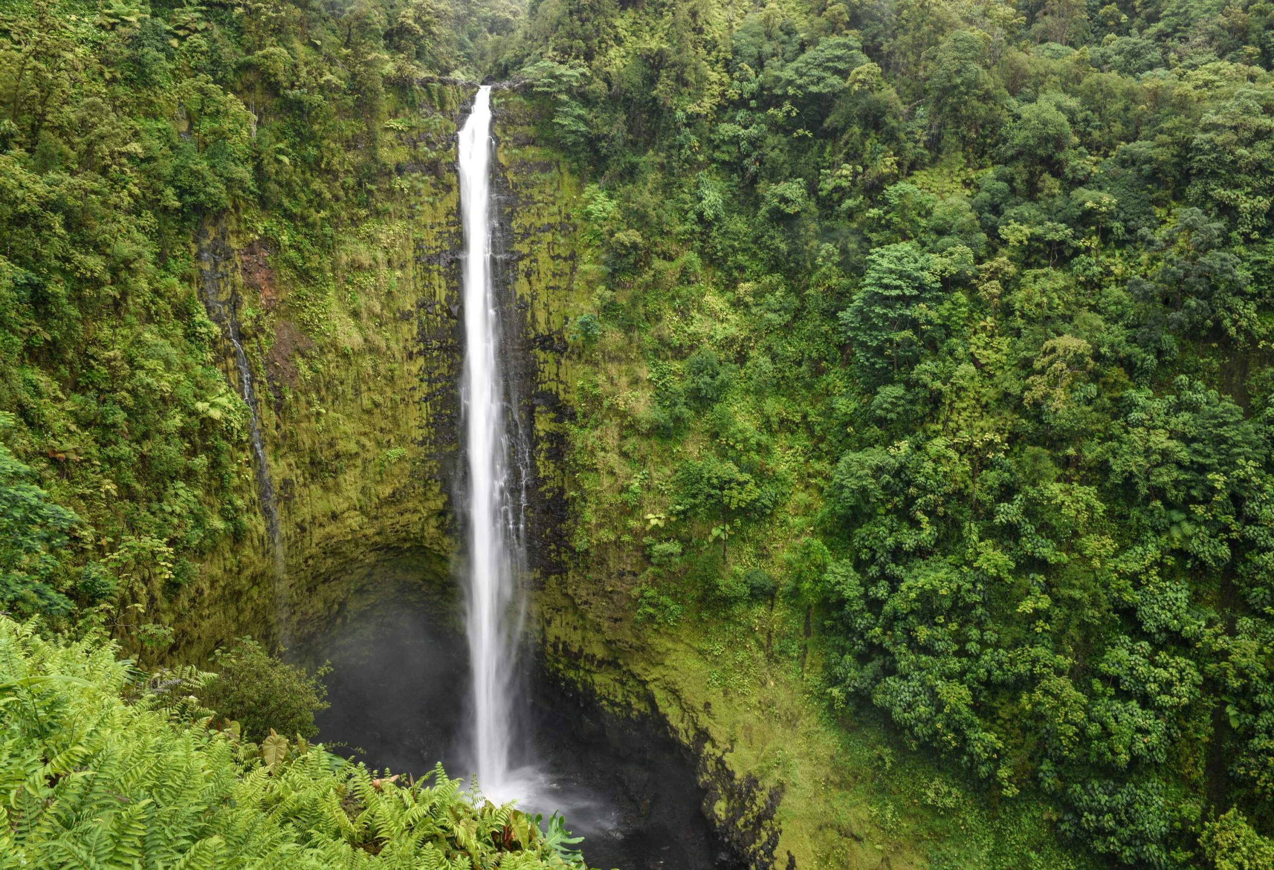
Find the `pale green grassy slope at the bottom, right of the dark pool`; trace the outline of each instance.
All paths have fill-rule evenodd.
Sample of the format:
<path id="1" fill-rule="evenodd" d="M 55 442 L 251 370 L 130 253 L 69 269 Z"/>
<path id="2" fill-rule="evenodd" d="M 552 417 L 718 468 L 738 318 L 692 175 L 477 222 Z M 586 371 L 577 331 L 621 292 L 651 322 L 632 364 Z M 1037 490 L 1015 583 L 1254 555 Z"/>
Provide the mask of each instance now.
<path id="1" fill-rule="evenodd" d="M 782 790 L 780 857 L 791 848 L 837 867 L 885 856 L 935 870 L 1092 866 L 1059 847 L 1047 802 L 996 800 L 910 752 L 870 708 L 829 712 L 813 656 L 801 673 L 766 655 L 759 625 L 691 619 L 693 632 L 651 638 L 661 675 L 711 704 L 705 724 L 736 769 Z"/>

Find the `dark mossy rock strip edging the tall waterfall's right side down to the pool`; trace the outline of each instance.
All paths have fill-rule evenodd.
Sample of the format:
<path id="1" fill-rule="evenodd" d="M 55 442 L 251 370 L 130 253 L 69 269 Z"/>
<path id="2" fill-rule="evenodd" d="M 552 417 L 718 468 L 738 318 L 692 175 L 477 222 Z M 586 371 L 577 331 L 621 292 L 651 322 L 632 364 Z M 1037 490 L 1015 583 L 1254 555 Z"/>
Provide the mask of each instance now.
<path id="1" fill-rule="evenodd" d="M 664 657 L 634 639 L 627 601 L 608 582 L 610 568 L 571 545 L 578 517 L 571 511 L 568 436 L 586 364 L 571 346 L 569 325 L 587 310 L 594 284 L 581 269 L 583 203 L 561 158 L 536 146 L 533 118 L 516 94 L 497 92 L 496 136 L 506 298 L 517 312 L 511 357 L 529 387 L 522 414 L 536 436 L 533 636 L 541 664 L 620 717 L 662 722 L 693 753 L 703 811 L 729 852 L 725 866 L 786 866 L 776 818 L 782 788 L 734 768 L 734 746 L 713 729 L 711 703 L 660 679 Z"/>

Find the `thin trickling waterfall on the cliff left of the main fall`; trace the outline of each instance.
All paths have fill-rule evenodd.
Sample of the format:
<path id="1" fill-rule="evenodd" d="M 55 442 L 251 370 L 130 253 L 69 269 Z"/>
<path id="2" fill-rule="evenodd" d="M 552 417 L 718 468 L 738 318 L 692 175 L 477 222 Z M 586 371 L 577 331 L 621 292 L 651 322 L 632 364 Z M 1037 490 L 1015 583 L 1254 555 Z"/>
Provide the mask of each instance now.
<path id="1" fill-rule="evenodd" d="M 261 437 L 261 420 L 257 414 L 256 389 L 252 385 L 252 369 L 243 353 L 242 332 L 238 325 L 238 313 L 233 302 L 222 297 L 222 282 L 225 273 L 222 266 L 225 261 L 225 239 L 218 236 L 210 239 L 208 225 L 200 224 L 196 237 L 199 257 L 199 270 L 201 287 L 204 289 L 204 308 L 214 324 L 217 324 L 229 339 L 234 355 L 234 368 L 238 372 L 238 391 L 247 405 L 247 436 L 252 446 L 252 457 L 256 460 L 256 489 L 261 501 L 261 517 L 265 520 L 265 534 L 270 544 L 270 554 L 274 563 L 274 609 L 275 631 L 279 634 L 279 643 L 288 647 L 292 643 L 292 610 L 288 603 L 287 564 L 283 553 L 283 535 L 279 531 L 279 507 L 274 497 L 274 481 L 270 480 L 270 465 L 265 459 L 265 439 Z"/>

